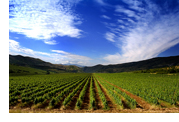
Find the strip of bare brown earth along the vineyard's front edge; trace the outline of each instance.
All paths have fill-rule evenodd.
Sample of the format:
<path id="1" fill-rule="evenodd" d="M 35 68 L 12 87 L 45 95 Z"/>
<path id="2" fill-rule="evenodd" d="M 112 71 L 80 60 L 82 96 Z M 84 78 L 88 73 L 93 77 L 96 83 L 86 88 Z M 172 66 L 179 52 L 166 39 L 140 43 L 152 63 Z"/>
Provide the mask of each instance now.
<path id="1" fill-rule="evenodd" d="M 123 110 L 60 110 L 60 109 L 9 109 L 9 113 L 179 113 L 179 108 L 123 109 Z"/>

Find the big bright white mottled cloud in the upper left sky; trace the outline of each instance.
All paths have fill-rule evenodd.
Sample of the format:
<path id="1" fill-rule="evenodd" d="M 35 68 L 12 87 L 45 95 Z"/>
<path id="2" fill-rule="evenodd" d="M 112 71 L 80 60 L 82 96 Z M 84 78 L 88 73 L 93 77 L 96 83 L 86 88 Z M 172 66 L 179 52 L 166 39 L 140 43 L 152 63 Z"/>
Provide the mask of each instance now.
<path id="1" fill-rule="evenodd" d="M 80 18 L 71 9 L 80 0 L 10 0 L 9 30 L 34 39 L 79 38 Z M 46 44 L 54 42 L 44 41 Z"/>

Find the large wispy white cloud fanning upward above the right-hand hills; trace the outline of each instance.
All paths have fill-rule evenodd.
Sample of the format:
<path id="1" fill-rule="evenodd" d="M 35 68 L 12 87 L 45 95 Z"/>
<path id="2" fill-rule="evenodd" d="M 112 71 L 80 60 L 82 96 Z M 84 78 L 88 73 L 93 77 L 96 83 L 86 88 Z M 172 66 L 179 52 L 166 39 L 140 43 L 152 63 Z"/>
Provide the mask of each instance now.
<path id="1" fill-rule="evenodd" d="M 136 4 L 134 3 L 136 2 Z M 108 54 L 103 59 L 106 64 L 124 63 L 139 61 L 158 56 L 163 51 L 179 43 L 179 8 L 169 11 L 167 3 L 165 6 L 157 6 L 155 3 L 145 1 L 145 10 L 141 7 L 139 18 L 134 21 L 131 17 L 135 14 L 124 9 L 123 13 L 128 17 L 120 16 L 120 19 L 131 22 L 129 25 L 123 24 L 125 28 L 111 27 L 110 31 L 116 33 L 118 40 L 115 45 L 120 49 L 120 53 Z M 135 8 L 142 4 L 140 1 L 126 2 L 129 7 Z M 122 13 L 123 7 L 117 7 L 116 12 Z M 167 11 L 168 10 L 168 11 Z M 167 11 L 164 13 L 164 11 Z M 118 22 L 122 23 L 121 20 Z M 107 32 L 108 33 L 108 32 Z"/>

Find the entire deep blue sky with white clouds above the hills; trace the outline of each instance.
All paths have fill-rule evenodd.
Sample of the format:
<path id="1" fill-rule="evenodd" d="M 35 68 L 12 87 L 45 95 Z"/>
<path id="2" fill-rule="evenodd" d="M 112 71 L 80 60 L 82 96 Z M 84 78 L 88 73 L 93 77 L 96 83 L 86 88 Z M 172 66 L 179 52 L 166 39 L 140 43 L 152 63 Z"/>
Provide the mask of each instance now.
<path id="1" fill-rule="evenodd" d="M 179 55 L 179 0 L 10 0 L 9 54 L 83 66 Z"/>

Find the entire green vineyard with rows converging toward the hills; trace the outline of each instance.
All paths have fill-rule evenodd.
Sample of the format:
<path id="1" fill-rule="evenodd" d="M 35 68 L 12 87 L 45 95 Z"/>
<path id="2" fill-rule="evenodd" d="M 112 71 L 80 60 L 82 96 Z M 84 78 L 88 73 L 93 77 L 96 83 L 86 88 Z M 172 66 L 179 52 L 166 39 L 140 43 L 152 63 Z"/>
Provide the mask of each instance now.
<path id="1" fill-rule="evenodd" d="M 179 112 L 179 75 L 61 73 L 9 77 L 9 110 Z"/>

